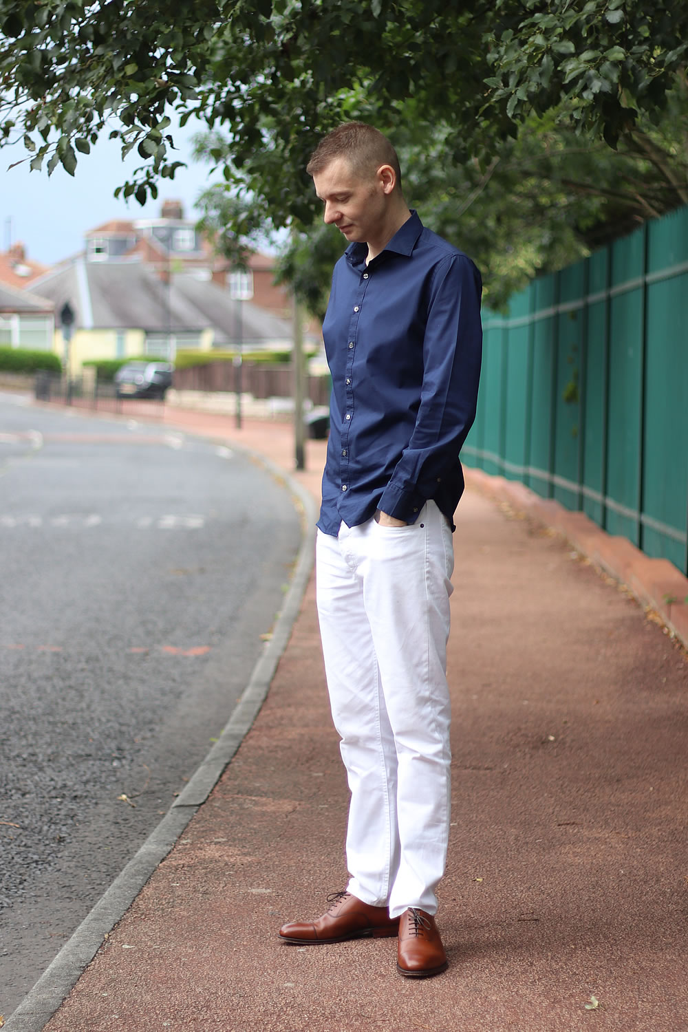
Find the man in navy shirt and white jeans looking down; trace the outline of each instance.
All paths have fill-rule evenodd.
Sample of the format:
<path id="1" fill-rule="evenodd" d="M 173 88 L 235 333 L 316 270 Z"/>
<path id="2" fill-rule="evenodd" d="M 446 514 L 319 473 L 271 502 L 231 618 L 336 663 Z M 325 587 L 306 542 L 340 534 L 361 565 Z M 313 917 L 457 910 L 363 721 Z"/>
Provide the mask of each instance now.
<path id="1" fill-rule="evenodd" d="M 307 171 L 325 222 L 351 241 L 323 325 L 332 398 L 317 543 L 351 878 L 325 914 L 280 935 L 398 935 L 398 971 L 424 977 L 447 969 L 434 914 L 450 819 L 452 516 L 476 414 L 481 279 L 409 212 L 376 129 L 339 126 Z"/>

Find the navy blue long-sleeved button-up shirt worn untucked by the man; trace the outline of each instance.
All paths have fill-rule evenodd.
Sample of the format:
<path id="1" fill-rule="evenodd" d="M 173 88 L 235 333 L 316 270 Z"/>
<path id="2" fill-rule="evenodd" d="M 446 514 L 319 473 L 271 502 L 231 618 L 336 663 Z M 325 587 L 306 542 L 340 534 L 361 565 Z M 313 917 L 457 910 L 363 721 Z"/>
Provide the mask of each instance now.
<path id="1" fill-rule="evenodd" d="M 367 265 L 352 244 L 334 266 L 323 323 L 332 374 L 318 526 L 336 535 L 376 509 L 415 522 L 429 498 L 452 521 L 459 451 L 476 416 L 480 272 L 412 212 Z"/>

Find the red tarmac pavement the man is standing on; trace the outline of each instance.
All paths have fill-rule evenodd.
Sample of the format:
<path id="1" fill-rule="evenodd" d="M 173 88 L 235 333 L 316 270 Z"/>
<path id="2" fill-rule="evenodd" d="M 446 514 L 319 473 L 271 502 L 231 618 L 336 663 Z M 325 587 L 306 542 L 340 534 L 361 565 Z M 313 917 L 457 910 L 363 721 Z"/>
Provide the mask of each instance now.
<path id="1" fill-rule="evenodd" d="M 287 424 L 237 431 L 181 410 L 165 422 L 293 470 Z M 314 494 L 324 452 L 308 442 L 295 475 Z M 688 1030 L 686 653 L 609 576 L 614 539 L 522 488 L 469 484 L 449 650 L 449 971 L 400 977 L 393 939 L 277 939 L 347 879 L 312 577 L 253 729 L 48 1032 Z M 643 598 L 650 574 L 626 544 Z"/>

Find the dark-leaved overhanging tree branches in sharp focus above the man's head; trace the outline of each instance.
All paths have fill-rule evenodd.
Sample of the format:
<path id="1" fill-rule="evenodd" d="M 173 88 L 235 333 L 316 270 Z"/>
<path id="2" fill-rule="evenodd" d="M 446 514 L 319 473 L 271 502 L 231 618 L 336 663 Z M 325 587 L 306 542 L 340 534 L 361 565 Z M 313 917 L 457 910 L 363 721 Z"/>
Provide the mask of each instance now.
<path id="1" fill-rule="evenodd" d="M 577 190 L 575 228 L 599 221 L 599 195 L 554 174 L 557 154 L 593 147 L 607 164 L 611 149 L 640 148 L 643 169 L 663 165 L 683 189 L 676 155 L 652 133 L 683 74 L 687 27 L 688 8 L 669 0 L 197 0 L 173 10 L 0 0 L 0 144 L 23 147 L 32 168 L 73 174 L 77 155 L 109 132 L 142 159 L 121 189 L 143 203 L 179 165 L 170 109 L 194 114 L 221 131 L 207 153 L 251 200 L 226 215 L 308 225 L 307 157 L 323 131 L 361 118 L 401 139 L 414 192 L 447 224 L 470 198 L 499 240 L 504 226 L 522 233 L 533 224 L 524 217 L 549 211 L 557 231 L 531 240 L 536 268 L 570 233 L 557 213 Z M 528 153 L 532 127 L 539 155 Z M 496 187 L 516 191 L 513 216 L 488 209 Z"/>

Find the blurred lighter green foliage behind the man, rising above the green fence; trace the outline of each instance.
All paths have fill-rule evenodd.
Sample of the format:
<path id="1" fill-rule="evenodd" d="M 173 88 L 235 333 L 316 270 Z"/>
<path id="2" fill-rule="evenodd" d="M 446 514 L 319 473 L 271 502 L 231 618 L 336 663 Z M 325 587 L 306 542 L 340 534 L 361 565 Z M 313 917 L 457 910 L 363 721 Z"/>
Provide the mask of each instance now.
<path id="1" fill-rule="evenodd" d="M 569 264 L 688 200 L 686 92 L 685 83 L 679 84 L 660 123 L 653 126 L 641 117 L 616 152 L 603 140 L 590 142 L 561 128 L 553 112 L 531 115 L 489 160 L 450 163 L 452 127 L 408 118 L 394 133 L 404 194 L 428 225 L 477 261 L 486 303 L 503 308 L 537 271 Z M 197 154 L 224 165 L 231 161 L 231 143 L 219 133 L 206 135 L 198 140 Z M 270 224 L 269 209 L 255 195 L 237 197 L 216 185 L 200 201 L 204 228 L 235 261 L 242 241 L 255 241 L 257 231 Z M 321 318 L 332 265 L 346 246 L 336 230 L 318 220 L 284 250 L 284 280 Z"/>

